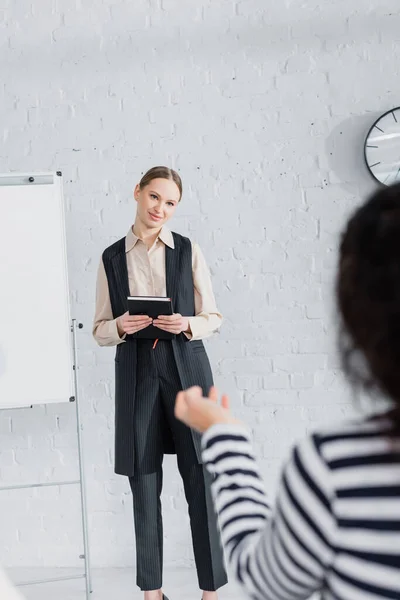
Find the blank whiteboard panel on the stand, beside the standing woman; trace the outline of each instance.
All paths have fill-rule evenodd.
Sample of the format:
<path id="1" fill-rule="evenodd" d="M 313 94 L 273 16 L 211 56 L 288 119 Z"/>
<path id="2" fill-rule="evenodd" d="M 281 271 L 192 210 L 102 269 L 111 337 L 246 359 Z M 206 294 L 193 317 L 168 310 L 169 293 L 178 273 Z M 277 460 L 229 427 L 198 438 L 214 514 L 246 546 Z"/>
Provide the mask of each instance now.
<path id="1" fill-rule="evenodd" d="M 61 174 L 0 175 L 0 409 L 68 402 L 72 358 Z"/>

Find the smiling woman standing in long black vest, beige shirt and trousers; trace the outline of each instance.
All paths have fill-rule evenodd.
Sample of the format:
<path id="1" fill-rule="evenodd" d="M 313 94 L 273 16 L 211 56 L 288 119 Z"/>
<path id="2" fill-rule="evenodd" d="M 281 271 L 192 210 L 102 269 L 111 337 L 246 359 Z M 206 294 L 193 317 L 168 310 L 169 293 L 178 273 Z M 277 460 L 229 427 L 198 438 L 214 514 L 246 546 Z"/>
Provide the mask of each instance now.
<path id="1" fill-rule="evenodd" d="M 164 453 L 177 454 L 203 599 L 213 600 L 226 583 L 200 435 L 174 414 L 180 390 L 192 385 L 206 394 L 210 390 L 213 378 L 202 339 L 222 321 L 199 246 L 166 227 L 181 197 L 176 171 L 150 169 L 134 190 L 134 225 L 104 251 L 97 280 L 93 334 L 100 346 L 117 346 L 115 471 L 129 477 L 133 493 L 137 584 L 146 600 L 162 599 Z M 168 297 L 175 313 L 154 320 L 131 316 L 129 296 Z M 156 343 L 150 324 L 173 334 L 173 339 Z"/>

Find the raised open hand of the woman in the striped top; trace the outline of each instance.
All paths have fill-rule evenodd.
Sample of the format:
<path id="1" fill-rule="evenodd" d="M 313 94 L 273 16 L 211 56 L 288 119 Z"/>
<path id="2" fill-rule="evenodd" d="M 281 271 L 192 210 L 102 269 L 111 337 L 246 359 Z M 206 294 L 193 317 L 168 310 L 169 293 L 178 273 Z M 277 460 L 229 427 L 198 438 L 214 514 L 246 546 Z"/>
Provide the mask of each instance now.
<path id="1" fill-rule="evenodd" d="M 218 404 L 218 391 L 212 387 L 208 398 L 203 398 L 200 387 L 179 392 L 175 403 L 175 416 L 188 427 L 204 433 L 217 423 L 240 423 L 229 411 L 229 398 L 224 395 Z"/>

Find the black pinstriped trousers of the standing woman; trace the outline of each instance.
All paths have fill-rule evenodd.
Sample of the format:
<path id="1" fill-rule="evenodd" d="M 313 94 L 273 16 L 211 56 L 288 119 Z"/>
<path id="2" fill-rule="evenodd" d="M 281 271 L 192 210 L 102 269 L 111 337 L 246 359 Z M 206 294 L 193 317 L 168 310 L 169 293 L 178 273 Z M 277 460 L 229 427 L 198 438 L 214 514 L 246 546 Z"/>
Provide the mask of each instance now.
<path id="1" fill-rule="evenodd" d="M 161 514 L 163 439 L 172 433 L 178 468 L 189 508 L 199 587 L 214 591 L 227 582 L 211 478 L 198 463 L 191 431 L 175 418 L 175 398 L 181 383 L 170 342 L 138 343 L 135 404 L 135 475 L 133 494 L 137 585 L 141 590 L 162 587 L 163 523 Z"/>

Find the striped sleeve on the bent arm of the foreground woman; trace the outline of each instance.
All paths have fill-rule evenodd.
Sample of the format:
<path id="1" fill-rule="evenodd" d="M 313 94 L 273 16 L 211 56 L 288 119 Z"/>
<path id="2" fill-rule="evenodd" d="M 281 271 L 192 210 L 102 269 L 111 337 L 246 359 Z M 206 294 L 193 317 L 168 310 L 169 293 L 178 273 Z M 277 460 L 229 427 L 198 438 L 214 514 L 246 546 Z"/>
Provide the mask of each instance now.
<path id="1" fill-rule="evenodd" d="M 221 424 L 203 436 L 203 460 L 228 566 L 255 600 L 309 598 L 332 561 L 335 520 L 316 440 L 296 446 L 270 510 L 249 435 Z"/>

